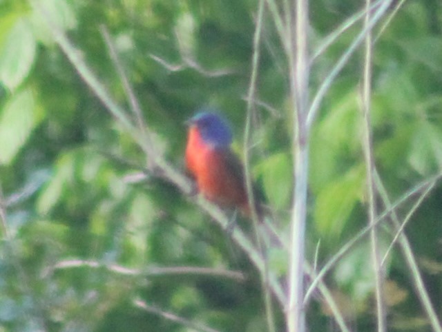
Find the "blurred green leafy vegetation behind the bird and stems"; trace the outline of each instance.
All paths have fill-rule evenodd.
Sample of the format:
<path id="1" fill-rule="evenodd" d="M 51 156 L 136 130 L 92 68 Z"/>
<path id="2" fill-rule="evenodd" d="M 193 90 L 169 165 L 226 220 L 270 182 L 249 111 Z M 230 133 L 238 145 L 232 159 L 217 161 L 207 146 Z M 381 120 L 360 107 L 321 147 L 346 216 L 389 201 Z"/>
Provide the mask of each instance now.
<path id="1" fill-rule="evenodd" d="M 310 1 L 311 54 L 363 6 Z M 155 145 L 183 170 L 184 121 L 204 105 L 222 110 L 242 151 L 257 8 L 250 0 L 0 1 L 0 331 L 267 331 L 247 256 L 173 184 L 151 174 L 137 180 L 146 156 L 52 33 L 66 32 L 77 56 L 129 109 L 115 49 Z M 356 21 L 314 57 L 312 96 L 361 27 Z M 441 32 L 437 0 L 397 1 L 374 30 L 374 155 L 392 202 L 441 171 Z M 318 269 L 367 225 L 362 69 L 360 50 L 313 127 L 306 240 L 307 260 Z M 284 52 L 266 12 L 252 169 L 281 231 L 293 178 L 288 90 Z M 439 182 L 405 228 L 439 317 L 441 197 Z M 415 191 L 398 207 L 400 221 L 418 198 Z M 380 229 L 385 251 L 394 231 L 388 221 Z M 376 329 L 368 244 L 358 242 L 326 278 L 354 331 Z M 270 263 L 285 274 L 285 256 Z M 207 270 L 186 273 L 191 267 Z M 396 247 L 385 271 L 389 331 L 429 331 Z M 283 310 L 275 311 L 284 331 Z M 339 331 L 320 297 L 307 308 L 307 325 Z"/>

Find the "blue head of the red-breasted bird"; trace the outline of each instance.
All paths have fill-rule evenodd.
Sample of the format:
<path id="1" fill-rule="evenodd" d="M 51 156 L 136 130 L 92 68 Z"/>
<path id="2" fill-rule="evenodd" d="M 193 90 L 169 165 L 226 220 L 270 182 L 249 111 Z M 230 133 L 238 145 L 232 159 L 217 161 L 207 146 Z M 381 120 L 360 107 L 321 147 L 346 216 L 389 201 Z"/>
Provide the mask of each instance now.
<path id="1" fill-rule="evenodd" d="M 199 112 L 189 123 L 195 125 L 204 142 L 214 147 L 228 147 L 233 136 L 227 122 L 220 115 L 213 112 Z"/>

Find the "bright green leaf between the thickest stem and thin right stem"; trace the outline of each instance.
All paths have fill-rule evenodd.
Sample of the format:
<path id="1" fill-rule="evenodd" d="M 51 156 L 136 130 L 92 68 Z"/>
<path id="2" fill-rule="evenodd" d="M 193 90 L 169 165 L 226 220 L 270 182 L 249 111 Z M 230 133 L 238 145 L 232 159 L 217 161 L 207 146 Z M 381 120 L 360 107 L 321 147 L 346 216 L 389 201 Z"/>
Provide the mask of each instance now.
<path id="1" fill-rule="evenodd" d="M 359 165 L 319 192 L 314 218 L 321 236 L 336 239 L 342 234 L 352 210 L 361 200 L 364 187 L 365 167 Z"/>

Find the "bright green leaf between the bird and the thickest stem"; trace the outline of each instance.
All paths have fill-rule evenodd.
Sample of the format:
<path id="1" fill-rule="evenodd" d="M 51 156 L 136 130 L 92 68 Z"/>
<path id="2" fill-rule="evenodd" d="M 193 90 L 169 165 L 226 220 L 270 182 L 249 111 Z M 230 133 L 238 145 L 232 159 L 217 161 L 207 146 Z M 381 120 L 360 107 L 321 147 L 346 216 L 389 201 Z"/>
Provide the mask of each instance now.
<path id="1" fill-rule="evenodd" d="M 293 167 L 289 154 L 273 154 L 257 166 L 269 203 L 282 209 L 289 205 L 293 188 Z"/>

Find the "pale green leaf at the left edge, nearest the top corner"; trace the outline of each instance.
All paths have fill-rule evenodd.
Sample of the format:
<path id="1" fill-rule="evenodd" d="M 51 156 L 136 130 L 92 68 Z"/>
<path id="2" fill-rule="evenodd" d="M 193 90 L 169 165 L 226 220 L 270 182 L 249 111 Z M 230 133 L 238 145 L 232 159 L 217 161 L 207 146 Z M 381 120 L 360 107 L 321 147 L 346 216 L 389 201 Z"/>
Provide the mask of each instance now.
<path id="1" fill-rule="evenodd" d="M 36 43 L 28 21 L 19 19 L 0 48 L 0 81 L 10 90 L 23 83 L 35 61 Z"/>

